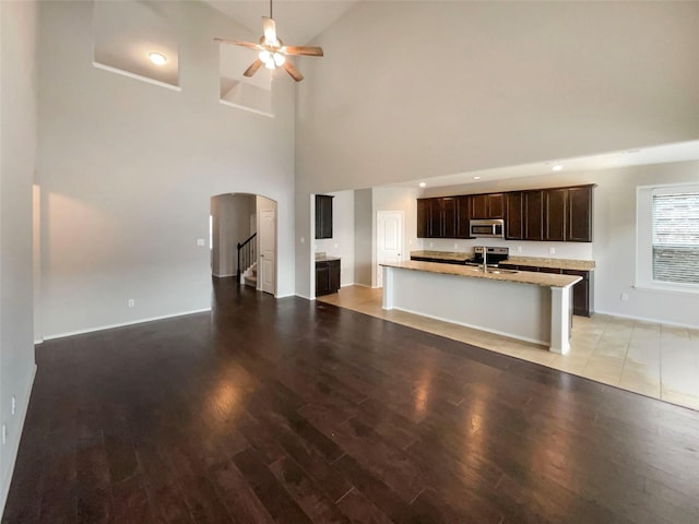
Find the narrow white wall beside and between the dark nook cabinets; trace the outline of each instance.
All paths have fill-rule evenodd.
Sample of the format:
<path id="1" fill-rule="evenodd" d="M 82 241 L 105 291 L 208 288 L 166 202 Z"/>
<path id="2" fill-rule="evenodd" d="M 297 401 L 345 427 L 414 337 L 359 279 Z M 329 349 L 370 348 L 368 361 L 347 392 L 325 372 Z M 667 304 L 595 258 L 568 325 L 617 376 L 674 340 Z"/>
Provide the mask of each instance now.
<path id="1" fill-rule="evenodd" d="M 315 252 L 324 252 L 329 257 L 340 257 L 340 285 L 354 284 L 354 191 L 324 193 L 332 199 L 332 238 L 313 241 Z"/>

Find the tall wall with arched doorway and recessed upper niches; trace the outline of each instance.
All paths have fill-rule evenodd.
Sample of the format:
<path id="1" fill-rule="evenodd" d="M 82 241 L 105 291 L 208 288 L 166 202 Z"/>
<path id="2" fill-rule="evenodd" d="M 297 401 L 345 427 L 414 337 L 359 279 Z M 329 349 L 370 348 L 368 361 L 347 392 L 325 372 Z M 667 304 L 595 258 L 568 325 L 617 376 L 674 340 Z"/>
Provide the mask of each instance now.
<path id="1" fill-rule="evenodd" d="M 210 308 L 210 253 L 197 240 L 214 194 L 279 203 L 277 293 L 292 294 L 293 82 L 274 82 L 274 118 L 221 104 L 213 38 L 254 35 L 199 2 L 161 3 L 181 92 L 93 68 L 91 8 L 40 3 L 43 334 Z"/>

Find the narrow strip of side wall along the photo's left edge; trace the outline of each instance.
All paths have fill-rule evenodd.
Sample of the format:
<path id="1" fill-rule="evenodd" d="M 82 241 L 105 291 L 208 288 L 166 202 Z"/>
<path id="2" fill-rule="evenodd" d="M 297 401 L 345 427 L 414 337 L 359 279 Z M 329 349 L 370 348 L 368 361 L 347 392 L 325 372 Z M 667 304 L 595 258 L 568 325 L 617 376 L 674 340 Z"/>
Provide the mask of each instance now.
<path id="1" fill-rule="evenodd" d="M 0 419 L 8 436 L 0 445 L 1 509 L 36 369 L 32 308 L 36 26 L 36 3 L 0 2 Z"/>

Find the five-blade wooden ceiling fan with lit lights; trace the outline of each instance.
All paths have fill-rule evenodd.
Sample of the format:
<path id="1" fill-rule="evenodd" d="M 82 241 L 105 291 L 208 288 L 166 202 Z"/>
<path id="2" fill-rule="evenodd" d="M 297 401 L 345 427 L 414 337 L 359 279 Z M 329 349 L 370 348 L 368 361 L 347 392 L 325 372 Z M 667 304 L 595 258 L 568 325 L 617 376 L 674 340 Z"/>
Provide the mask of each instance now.
<path id="1" fill-rule="evenodd" d="M 216 41 L 224 44 L 233 44 L 234 46 L 242 46 L 258 51 L 258 58 L 246 69 L 244 76 L 252 76 L 258 70 L 264 66 L 266 69 L 274 70 L 283 68 L 296 82 L 304 80 L 304 75 L 286 59 L 287 56 L 300 55 L 308 57 L 322 57 L 323 49 L 312 46 L 285 46 L 276 36 L 276 22 L 272 17 L 272 0 L 270 0 L 270 15 L 262 16 L 263 35 L 260 37 L 259 44 L 251 41 L 228 40 L 226 38 L 214 38 Z"/>

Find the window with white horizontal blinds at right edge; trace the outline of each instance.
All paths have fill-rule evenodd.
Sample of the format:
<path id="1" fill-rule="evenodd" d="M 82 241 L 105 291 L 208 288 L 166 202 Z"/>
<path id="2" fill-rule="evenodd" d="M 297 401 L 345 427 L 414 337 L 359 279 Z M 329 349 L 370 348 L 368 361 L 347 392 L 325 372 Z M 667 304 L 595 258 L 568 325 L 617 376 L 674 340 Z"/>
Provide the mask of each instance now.
<path id="1" fill-rule="evenodd" d="M 699 285 L 699 192 L 653 195 L 653 279 Z"/>

